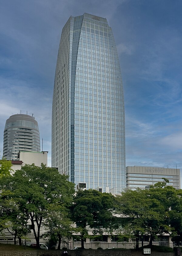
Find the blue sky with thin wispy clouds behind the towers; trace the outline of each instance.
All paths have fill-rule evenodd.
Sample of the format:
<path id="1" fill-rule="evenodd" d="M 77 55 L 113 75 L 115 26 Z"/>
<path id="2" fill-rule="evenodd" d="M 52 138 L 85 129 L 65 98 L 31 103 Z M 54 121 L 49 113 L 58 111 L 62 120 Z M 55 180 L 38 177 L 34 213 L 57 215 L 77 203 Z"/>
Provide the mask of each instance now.
<path id="1" fill-rule="evenodd" d="M 62 27 L 106 17 L 124 87 L 126 166 L 182 169 L 181 0 L 0 1 L 0 155 L 9 116 L 32 113 L 51 165 L 51 112 Z M 42 148 L 42 146 L 41 146 Z"/>

